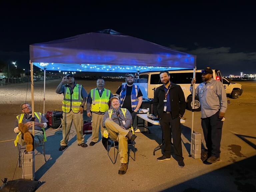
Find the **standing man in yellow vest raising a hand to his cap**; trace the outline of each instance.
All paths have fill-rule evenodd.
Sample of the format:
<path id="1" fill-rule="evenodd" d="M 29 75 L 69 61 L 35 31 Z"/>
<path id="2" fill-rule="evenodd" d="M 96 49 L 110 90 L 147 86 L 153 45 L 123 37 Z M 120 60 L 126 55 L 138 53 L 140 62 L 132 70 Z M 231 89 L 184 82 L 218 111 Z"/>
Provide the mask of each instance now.
<path id="1" fill-rule="evenodd" d="M 64 95 L 62 101 L 63 121 L 62 121 L 62 140 L 59 150 L 62 151 L 68 146 L 68 138 L 72 122 L 76 128 L 77 144 L 87 147 L 83 138 L 83 111 L 88 94 L 82 85 L 74 81 L 72 74 L 62 78 L 56 89 L 56 93 Z"/>

